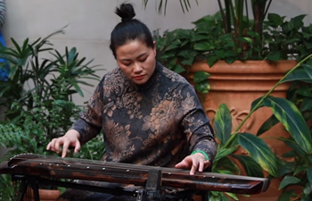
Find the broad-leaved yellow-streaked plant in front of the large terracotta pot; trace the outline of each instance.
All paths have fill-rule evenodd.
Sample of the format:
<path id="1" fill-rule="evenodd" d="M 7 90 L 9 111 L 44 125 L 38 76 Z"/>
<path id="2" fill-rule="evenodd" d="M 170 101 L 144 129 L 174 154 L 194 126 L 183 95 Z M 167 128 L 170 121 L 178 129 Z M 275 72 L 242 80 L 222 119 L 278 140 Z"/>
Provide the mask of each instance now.
<path id="1" fill-rule="evenodd" d="M 288 71 L 283 79 L 279 80 L 275 87 L 271 88 L 266 95 L 256 99 L 250 105 L 250 113 L 237 128 L 232 128 L 232 117 L 227 106 L 219 106 L 214 122 L 216 138 L 219 141 L 218 153 L 213 162 L 212 172 L 241 173 L 237 163 L 231 160 L 231 158 L 235 158 L 242 164 L 244 171 L 249 176 L 263 177 L 262 170 L 265 170 L 270 174 L 270 177 L 283 177 L 280 184 L 283 194 L 279 197 L 279 200 L 283 200 L 285 197 L 292 197 L 291 200 L 310 200 L 312 198 L 312 157 L 310 148 L 312 145 L 312 124 L 308 124 L 310 128 L 307 126 L 307 121 L 312 119 L 312 105 L 308 104 L 311 100 L 310 94 L 312 89 L 309 81 L 302 84 L 301 76 L 296 77 L 296 75 L 300 75 L 303 72 L 302 65 L 306 67 L 304 68 L 305 73 L 310 73 L 310 69 L 312 69 L 309 67 L 311 65 L 311 62 L 308 60 L 310 56 L 306 57 L 291 71 Z M 288 99 L 292 103 L 290 100 L 281 97 L 269 96 L 279 84 L 289 80 L 289 78 L 297 80 L 288 95 Z M 300 84 L 298 83 L 299 80 Z M 263 123 L 262 127 L 259 128 L 258 134 L 238 133 L 238 130 L 242 128 L 242 125 L 250 115 L 263 106 L 271 108 L 274 114 Z M 272 128 L 276 122 L 281 122 L 284 128 L 291 134 L 290 138 L 278 139 L 283 140 L 288 147 L 291 147 L 292 150 L 283 155 L 283 157 L 294 158 L 293 162 L 284 162 L 276 157 L 260 138 L 261 134 Z M 238 147 L 242 147 L 249 155 L 235 154 Z M 289 187 L 294 185 L 302 187 L 303 190 L 299 195 L 293 190 L 289 190 Z M 231 195 L 231 197 L 234 200 L 238 200 L 234 195 Z M 228 197 L 220 192 L 211 192 L 209 198 L 212 198 L 212 200 L 228 200 Z"/>

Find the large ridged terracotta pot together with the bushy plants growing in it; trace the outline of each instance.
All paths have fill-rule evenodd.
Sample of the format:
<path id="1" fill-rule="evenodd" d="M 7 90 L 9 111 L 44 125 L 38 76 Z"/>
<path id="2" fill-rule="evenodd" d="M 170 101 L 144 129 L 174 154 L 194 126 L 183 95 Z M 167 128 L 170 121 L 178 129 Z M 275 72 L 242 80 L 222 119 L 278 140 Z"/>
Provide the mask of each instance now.
<path id="1" fill-rule="evenodd" d="M 147 2 L 144 1 L 144 4 L 146 5 Z M 161 11 L 161 6 L 166 5 L 166 2 L 160 1 L 159 11 Z M 275 89 L 270 91 L 271 96 L 282 99 L 286 96 L 285 93 L 291 83 L 279 82 L 279 80 L 283 78 L 286 71 L 290 71 L 303 58 L 308 58 L 307 56 L 312 53 L 312 46 L 309 46 L 312 31 L 311 26 L 305 26 L 302 21 L 305 15 L 299 15 L 286 21 L 285 17 L 277 13 L 268 13 L 271 2 L 271 0 L 226 0 L 222 4 L 218 0 L 220 8 L 218 13 L 194 21 L 193 29 L 166 31 L 163 36 L 156 37 L 156 44 L 160 62 L 169 69 L 185 75 L 185 78 L 194 84 L 211 121 L 216 119 L 218 106 L 226 104 L 233 116 L 231 121 L 234 134 L 239 132 L 249 132 L 254 135 L 263 133 L 261 136 L 259 134 L 258 138 L 267 138 L 265 140 L 270 146 L 270 148 L 265 148 L 264 153 L 267 152 L 267 156 L 269 156 L 271 154 L 268 153 L 273 151 L 275 156 L 282 158 L 283 154 L 291 151 L 292 147 L 285 146 L 284 140 L 278 140 L 276 137 L 292 141 L 294 140 L 292 135 L 300 137 L 298 133 L 290 129 L 297 127 L 298 122 L 289 121 L 288 123 L 291 122 L 290 126 L 284 122 L 285 120 L 278 119 L 283 126 L 281 123 L 275 125 L 276 115 L 272 116 L 271 110 L 267 107 L 260 107 L 257 108 L 256 113 L 253 113 L 250 105 L 255 99 L 264 96 L 271 88 Z M 189 8 L 188 1 L 180 1 L 180 3 L 184 8 Z M 307 63 L 308 60 L 305 62 Z M 307 66 L 304 69 L 292 71 L 287 80 L 300 80 L 301 78 L 301 80 L 310 81 L 308 71 Z M 247 77 L 244 74 L 247 74 Z M 259 78 L 258 75 L 262 78 Z M 277 87 L 275 87 L 276 83 L 278 83 Z M 250 84 L 253 84 L 253 87 L 250 87 Z M 250 88 L 255 88 L 255 90 L 250 90 Z M 242 93 L 239 94 L 240 92 Z M 278 101 L 280 100 L 278 99 Z M 267 98 L 266 101 L 267 106 L 274 113 L 276 110 L 274 105 L 277 104 L 275 101 L 274 98 L 272 100 Z M 269 106 L 268 103 L 272 105 Z M 281 113 L 296 116 L 298 111 L 293 107 L 288 107 L 290 105 L 290 102 L 285 102 L 282 105 L 284 107 L 281 108 Z M 248 118 L 246 119 L 246 117 Z M 243 119 L 244 121 L 242 121 Z M 302 122 L 302 118 L 300 120 Z M 264 125 L 261 127 L 262 124 Z M 273 127 L 273 125 L 275 126 Z M 263 129 L 266 126 L 267 128 Z M 303 126 L 302 128 L 305 128 L 304 131 L 300 130 L 299 133 L 304 133 L 304 138 L 309 138 L 310 133 L 307 132 L 307 127 Z M 294 141 L 296 142 L 296 140 Z M 302 142 L 296 143 L 303 146 Z M 226 143 L 225 150 L 231 153 L 229 145 Z M 259 148 L 258 145 L 255 143 L 254 147 Z M 222 153 L 224 152 L 226 151 Z M 303 153 L 309 153 L 308 149 Z M 250 150 L 244 147 L 244 149 L 236 150 L 235 154 L 250 155 Z M 283 161 L 279 161 L 279 163 L 273 161 L 272 166 L 266 167 L 264 164 L 266 164 L 267 156 L 259 156 L 258 163 L 269 175 L 280 176 L 276 172 L 276 167 Z M 283 158 L 283 160 L 287 159 Z M 280 180 L 282 179 L 275 180 L 276 182 L 271 185 L 271 196 L 265 197 L 266 199 L 277 199 L 279 193 L 276 192 L 281 192 L 277 191 Z M 251 199 L 252 197 L 249 198 L 249 200 Z M 257 198 L 255 199 L 257 200 Z"/>

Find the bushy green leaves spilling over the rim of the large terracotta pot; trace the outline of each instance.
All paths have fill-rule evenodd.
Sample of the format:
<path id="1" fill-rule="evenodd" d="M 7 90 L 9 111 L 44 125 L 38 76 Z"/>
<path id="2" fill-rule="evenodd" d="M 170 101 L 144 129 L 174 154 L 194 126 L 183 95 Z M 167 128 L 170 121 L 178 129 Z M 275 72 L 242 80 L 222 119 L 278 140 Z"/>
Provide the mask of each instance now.
<path id="1" fill-rule="evenodd" d="M 243 36 L 234 37 L 224 29 L 220 12 L 207 15 L 194 21 L 193 29 L 174 29 L 166 31 L 163 36 L 156 36 L 158 60 L 168 69 L 183 75 L 193 73 L 192 64 L 197 60 L 206 60 L 210 67 L 219 60 L 227 63 L 290 58 L 301 61 L 312 53 L 309 45 L 312 42 L 312 25 L 304 26 L 304 17 L 300 15 L 286 21 L 278 14 L 268 13 L 261 35 L 250 30 Z M 193 80 L 198 80 L 199 76 L 194 74 Z M 197 85 L 195 83 L 195 87 Z M 202 80 L 200 85 L 206 87 L 196 89 L 208 93 L 209 79 Z"/>

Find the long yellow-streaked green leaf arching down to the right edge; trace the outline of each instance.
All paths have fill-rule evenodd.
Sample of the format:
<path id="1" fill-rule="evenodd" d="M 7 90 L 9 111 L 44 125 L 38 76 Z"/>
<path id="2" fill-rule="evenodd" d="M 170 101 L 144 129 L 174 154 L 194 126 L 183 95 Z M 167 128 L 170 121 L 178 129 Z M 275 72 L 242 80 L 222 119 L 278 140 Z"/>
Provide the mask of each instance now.
<path id="1" fill-rule="evenodd" d="M 298 108 L 282 97 L 267 96 L 263 103 L 272 109 L 275 117 L 282 122 L 300 147 L 306 153 L 312 154 L 311 134 Z"/>

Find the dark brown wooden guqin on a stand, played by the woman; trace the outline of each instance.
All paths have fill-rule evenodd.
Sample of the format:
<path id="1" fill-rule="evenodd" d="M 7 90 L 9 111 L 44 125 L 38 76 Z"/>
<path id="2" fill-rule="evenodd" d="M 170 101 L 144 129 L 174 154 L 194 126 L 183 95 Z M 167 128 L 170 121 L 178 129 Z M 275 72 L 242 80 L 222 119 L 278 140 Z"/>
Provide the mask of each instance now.
<path id="1" fill-rule="evenodd" d="M 223 191 L 236 194 L 259 194 L 267 190 L 269 180 L 264 178 L 196 172 L 137 165 L 130 163 L 110 163 L 58 156 L 23 154 L 0 163 L 0 174 L 11 174 L 13 180 L 21 180 L 18 200 L 22 200 L 29 184 L 38 201 L 37 183 L 65 188 L 81 188 L 97 192 L 137 197 L 136 200 L 161 200 L 161 188 L 183 188 L 186 191 Z M 106 181 L 137 186 L 135 192 L 120 188 L 107 189 L 86 186 L 68 180 Z"/>

